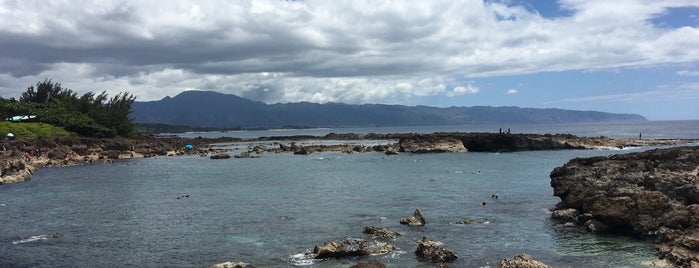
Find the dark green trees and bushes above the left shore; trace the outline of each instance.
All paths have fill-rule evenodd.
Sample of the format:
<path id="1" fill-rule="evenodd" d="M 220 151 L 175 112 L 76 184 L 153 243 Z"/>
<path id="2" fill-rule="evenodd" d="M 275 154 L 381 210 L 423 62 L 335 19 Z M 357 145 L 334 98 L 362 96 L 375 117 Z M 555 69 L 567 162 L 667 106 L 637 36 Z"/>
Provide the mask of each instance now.
<path id="1" fill-rule="evenodd" d="M 21 98 L 0 97 L 0 116 L 35 115 L 35 122 L 64 128 L 88 137 L 133 137 L 135 124 L 129 117 L 135 97 L 122 92 L 109 98 L 106 92 L 77 93 L 50 79 L 30 86 Z"/>

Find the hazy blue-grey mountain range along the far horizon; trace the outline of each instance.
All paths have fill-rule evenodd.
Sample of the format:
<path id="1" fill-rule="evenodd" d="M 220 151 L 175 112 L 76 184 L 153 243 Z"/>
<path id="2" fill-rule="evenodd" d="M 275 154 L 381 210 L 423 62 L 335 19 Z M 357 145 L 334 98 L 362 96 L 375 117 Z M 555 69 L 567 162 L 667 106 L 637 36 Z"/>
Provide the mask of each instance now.
<path id="1" fill-rule="evenodd" d="M 134 102 L 136 123 L 213 128 L 436 126 L 642 122 L 637 114 L 519 107 L 448 107 L 343 103 L 265 104 L 213 91 L 185 91 L 158 101 Z"/>

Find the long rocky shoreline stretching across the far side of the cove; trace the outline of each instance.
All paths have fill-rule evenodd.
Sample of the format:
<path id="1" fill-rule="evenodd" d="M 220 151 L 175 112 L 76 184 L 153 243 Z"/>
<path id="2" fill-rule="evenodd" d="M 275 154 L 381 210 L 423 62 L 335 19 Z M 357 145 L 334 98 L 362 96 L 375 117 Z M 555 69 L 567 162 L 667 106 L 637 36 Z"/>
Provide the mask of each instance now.
<path id="1" fill-rule="evenodd" d="M 385 145 L 296 145 L 300 141 L 396 140 Z M 236 158 L 254 157 L 264 152 L 311 154 L 325 151 L 345 153 L 381 152 L 444 153 L 444 152 L 515 152 L 531 150 L 623 149 L 644 146 L 675 146 L 699 142 L 694 139 L 611 139 L 607 137 L 578 137 L 570 134 L 507 134 L 436 132 L 432 134 L 336 134 L 325 136 L 269 136 L 250 139 L 182 138 L 172 136 L 141 136 L 127 138 L 56 137 L 51 139 L 4 140 L 0 151 L 0 185 L 31 179 L 37 168 L 75 166 L 96 162 L 111 163 L 118 159 L 154 156 L 227 155 L 227 149 L 212 148 L 215 144 L 234 142 L 270 142 L 276 148 L 248 148 Z M 285 144 L 286 143 L 286 144 Z M 192 145 L 193 149 L 186 149 Z M 229 156 L 229 155 L 228 155 Z M 228 158 L 228 157 L 224 157 Z"/>

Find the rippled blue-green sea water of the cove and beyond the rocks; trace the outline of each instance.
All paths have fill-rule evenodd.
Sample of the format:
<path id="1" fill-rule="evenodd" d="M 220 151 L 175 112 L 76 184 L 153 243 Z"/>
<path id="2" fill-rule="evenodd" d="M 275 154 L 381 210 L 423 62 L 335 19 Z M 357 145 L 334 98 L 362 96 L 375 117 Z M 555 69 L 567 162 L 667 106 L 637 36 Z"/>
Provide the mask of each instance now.
<path id="1" fill-rule="evenodd" d="M 447 126 L 187 133 L 279 136 L 327 133 L 488 131 L 572 133 L 615 138 L 696 138 L 699 121 L 539 126 Z M 586 134 L 587 133 L 587 134 Z M 247 148 L 247 143 L 222 144 Z M 550 219 L 549 173 L 575 157 L 646 150 L 515 153 L 265 153 L 212 160 L 152 157 L 41 168 L 33 179 L 0 185 L 0 267 L 435 267 L 413 241 L 441 241 L 458 255 L 450 267 L 497 267 L 530 254 L 553 267 L 643 267 L 652 241 L 593 235 Z M 497 194 L 498 199 L 491 196 Z M 486 206 L 481 206 L 486 202 Z M 420 209 L 426 226 L 400 225 Z M 465 218 L 477 224 L 454 224 Z M 382 256 L 313 260 L 316 245 L 371 239 L 387 227 L 396 250 Z M 59 238 L 51 234 L 59 233 Z"/>

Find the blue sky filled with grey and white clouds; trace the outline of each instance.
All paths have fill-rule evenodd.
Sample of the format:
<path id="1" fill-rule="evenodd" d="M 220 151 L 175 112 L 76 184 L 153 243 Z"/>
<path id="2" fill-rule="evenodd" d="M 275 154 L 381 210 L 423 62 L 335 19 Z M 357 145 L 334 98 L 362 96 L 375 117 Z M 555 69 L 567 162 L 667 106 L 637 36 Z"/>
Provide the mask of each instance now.
<path id="1" fill-rule="evenodd" d="M 519 106 L 699 119 L 697 0 L 0 0 L 0 96 Z"/>

